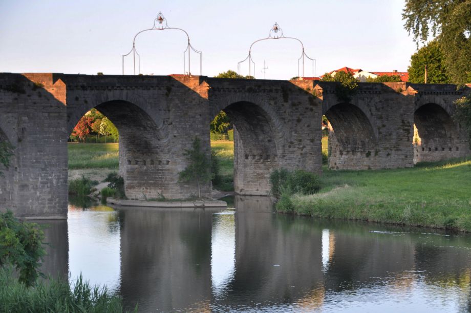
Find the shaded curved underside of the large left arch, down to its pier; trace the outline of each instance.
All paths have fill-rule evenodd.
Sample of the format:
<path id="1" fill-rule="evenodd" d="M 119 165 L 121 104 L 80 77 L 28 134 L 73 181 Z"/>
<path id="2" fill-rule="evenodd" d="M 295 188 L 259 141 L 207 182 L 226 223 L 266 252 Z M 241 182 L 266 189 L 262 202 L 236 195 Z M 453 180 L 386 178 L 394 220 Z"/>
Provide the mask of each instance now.
<path id="1" fill-rule="evenodd" d="M 166 141 L 155 121 L 132 102 L 111 100 L 94 107 L 108 117 L 119 132 L 119 175 L 129 199 L 169 195 L 172 184 Z"/>

